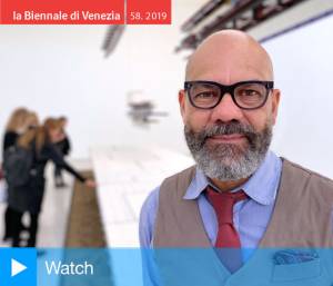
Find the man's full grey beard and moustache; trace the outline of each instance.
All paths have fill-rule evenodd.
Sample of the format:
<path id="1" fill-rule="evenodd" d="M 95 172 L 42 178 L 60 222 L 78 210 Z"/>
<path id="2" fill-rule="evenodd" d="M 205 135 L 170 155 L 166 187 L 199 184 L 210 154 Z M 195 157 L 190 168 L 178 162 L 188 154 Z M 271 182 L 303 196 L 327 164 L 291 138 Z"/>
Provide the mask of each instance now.
<path id="1" fill-rule="evenodd" d="M 189 149 L 198 167 L 209 178 L 239 180 L 250 177 L 261 165 L 272 140 L 272 124 L 266 122 L 261 132 L 239 121 L 219 124 L 200 132 L 184 127 Z M 245 145 L 212 144 L 206 139 L 214 135 L 241 134 Z"/>

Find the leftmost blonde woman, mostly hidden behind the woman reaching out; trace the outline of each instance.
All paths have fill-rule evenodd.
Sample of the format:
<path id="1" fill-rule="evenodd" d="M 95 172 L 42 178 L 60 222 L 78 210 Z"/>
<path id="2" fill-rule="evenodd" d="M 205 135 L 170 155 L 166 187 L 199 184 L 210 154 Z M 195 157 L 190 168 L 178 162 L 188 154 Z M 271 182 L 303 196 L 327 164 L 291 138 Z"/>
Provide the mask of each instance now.
<path id="1" fill-rule="evenodd" d="M 6 150 L 16 145 L 18 137 L 23 134 L 27 129 L 27 119 L 30 116 L 30 112 L 27 108 L 17 108 L 10 116 L 6 131 L 3 136 L 3 145 L 2 145 L 2 155 L 4 155 Z M 3 161 L 3 160 L 2 160 Z M 23 225 L 21 225 L 23 228 Z M 12 238 L 11 230 L 11 209 L 7 207 L 4 211 L 4 235 L 3 241 Z"/>

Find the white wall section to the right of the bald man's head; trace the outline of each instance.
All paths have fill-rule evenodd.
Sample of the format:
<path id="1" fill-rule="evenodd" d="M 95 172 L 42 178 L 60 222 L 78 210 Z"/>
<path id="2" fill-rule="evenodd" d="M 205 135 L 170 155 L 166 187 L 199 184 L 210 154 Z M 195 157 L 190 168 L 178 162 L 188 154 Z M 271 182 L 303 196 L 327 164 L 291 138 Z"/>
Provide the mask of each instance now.
<path id="1" fill-rule="evenodd" d="M 281 106 L 272 148 L 333 178 L 333 14 L 269 40 Z"/>

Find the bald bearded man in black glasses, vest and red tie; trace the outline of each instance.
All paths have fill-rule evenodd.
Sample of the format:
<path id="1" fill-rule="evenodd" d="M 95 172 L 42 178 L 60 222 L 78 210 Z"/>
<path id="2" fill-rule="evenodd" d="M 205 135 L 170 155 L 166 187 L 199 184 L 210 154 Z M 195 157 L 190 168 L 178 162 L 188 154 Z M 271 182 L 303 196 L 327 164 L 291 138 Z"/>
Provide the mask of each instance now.
<path id="1" fill-rule="evenodd" d="M 240 31 L 214 33 L 191 56 L 179 103 L 196 164 L 142 207 L 141 246 L 154 249 L 147 285 L 332 285 L 307 248 L 332 247 L 333 183 L 269 150 L 273 80 L 268 52 Z"/>

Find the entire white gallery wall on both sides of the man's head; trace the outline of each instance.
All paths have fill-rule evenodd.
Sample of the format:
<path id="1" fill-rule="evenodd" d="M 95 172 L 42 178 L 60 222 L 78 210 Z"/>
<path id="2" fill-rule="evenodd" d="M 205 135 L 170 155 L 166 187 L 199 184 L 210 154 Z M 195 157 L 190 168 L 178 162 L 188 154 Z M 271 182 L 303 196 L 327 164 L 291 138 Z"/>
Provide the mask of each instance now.
<path id="1" fill-rule="evenodd" d="M 87 158 L 92 146 L 112 144 L 153 142 L 186 152 L 178 107 L 186 55 L 173 50 L 182 39 L 180 24 L 202 2 L 178 1 L 172 26 L 127 27 L 108 59 L 101 51 L 104 26 L 0 27 L 1 130 L 12 109 L 27 106 L 41 118 L 69 117 L 77 158 Z M 330 177 L 332 28 L 331 16 L 264 43 L 282 90 L 272 148 Z M 169 117 L 135 127 L 127 115 L 132 90 L 141 90 Z"/>

